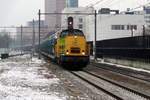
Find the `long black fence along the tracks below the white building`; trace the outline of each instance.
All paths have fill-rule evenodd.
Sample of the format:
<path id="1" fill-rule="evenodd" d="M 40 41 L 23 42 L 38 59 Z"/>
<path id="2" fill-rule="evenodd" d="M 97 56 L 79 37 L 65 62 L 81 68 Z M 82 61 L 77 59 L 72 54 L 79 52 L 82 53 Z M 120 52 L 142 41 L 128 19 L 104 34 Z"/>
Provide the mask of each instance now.
<path id="1" fill-rule="evenodd" d="M 89 43 L 92 44 L 92 42 Z M 150 36 L 136 36 L 97 41 L 96 56 L 98 58 L 125 58 L 150 62 Z"/>

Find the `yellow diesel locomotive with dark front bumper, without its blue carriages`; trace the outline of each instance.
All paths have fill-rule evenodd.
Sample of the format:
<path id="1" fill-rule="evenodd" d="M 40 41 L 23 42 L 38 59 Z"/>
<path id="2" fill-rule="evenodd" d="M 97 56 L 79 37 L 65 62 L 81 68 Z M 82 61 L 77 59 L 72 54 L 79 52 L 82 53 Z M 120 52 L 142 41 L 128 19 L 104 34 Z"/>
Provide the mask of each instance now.
<path id="1" fill-rule="evenodd" d="M 59 64 L 88 64 L 89 46 L 82 31 L 63 30 L 56 41 L 54 54 Z"/>

